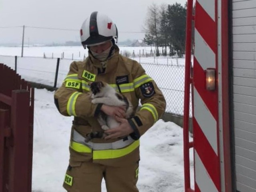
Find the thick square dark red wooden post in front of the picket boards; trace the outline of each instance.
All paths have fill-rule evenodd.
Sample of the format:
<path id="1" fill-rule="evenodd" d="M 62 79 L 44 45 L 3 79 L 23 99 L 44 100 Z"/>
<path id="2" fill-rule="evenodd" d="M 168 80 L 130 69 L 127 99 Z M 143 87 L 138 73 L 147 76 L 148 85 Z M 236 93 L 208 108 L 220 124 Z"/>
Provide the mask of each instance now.
<path id="1" fill-rule="evenodd" d="M 29 164 L 29 130 L 30 130 L 30 92 L 27 90 L 12 91 L 11 128 L 14 147 L 10 148 L 9 191 L 31 192 Z M 21 179 L 22 178 L 22 179 Z"/>

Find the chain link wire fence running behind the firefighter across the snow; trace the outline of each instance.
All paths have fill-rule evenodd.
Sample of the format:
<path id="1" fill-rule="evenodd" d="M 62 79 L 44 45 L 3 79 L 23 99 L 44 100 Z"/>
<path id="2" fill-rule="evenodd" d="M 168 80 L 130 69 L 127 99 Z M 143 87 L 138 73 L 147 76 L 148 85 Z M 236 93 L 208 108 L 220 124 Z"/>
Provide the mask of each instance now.
<path id="1" fill-rule="evenodd" d="M 184 58 L 147 57 L 134 58 L 140 62 L 146 73 L 157 83 L 166 98 L 166 112 L 182 115 L 184 109 Z M 25 80 L 45 84 L 48 86 L 61 86 L 69 70 L 71 59 L 60 59 L 58 71 L 57 58 L 0 56 L 0 62 L 17 70 Z M 155 61 L 155 63 L 154 63 Z M 57 72 L 57 73 L 56 73 Z M 56 81 L 56 82 L 55 82 Z M 190 94 L 191 100 L 191 94 Z M 190 104 L 190 116 L 192 116 Z"/>

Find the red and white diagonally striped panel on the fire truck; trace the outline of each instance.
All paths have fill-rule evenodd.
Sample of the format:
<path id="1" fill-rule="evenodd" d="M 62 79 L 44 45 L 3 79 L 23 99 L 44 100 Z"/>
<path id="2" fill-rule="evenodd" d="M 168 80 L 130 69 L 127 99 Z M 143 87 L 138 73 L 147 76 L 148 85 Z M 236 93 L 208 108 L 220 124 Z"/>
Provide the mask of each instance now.
<path id="1" fill-rule="evenodd" d="M 218 88 L 215 91 L 206 90 L 205 74 L 207 68 L 218 71 L 216 13 L 216 0 L 196 1 L 193 105 L 195 192 L 220 192 L 221 188 Z"/>

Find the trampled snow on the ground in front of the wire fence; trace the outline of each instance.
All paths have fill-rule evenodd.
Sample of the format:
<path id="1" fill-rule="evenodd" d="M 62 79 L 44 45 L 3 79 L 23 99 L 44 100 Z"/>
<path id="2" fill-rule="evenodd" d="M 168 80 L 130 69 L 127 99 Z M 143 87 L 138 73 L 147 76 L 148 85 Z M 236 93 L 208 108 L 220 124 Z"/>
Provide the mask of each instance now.
<path id="1" fill-rule="evenodd" d="M 59 114 L 53 92 L 35 90 L 34 192 L 65 192 L 62 188 L 68 166 L 72 117 Z M 184 192 L 182 128 L 159 120 L 140 139 L 140 192 Z M 190 151 L 192 158 L 192 151 Z M 193 162 L 190 162 L 193 179 Z M 102 192 L 106 192 L 104 181 Z"/>

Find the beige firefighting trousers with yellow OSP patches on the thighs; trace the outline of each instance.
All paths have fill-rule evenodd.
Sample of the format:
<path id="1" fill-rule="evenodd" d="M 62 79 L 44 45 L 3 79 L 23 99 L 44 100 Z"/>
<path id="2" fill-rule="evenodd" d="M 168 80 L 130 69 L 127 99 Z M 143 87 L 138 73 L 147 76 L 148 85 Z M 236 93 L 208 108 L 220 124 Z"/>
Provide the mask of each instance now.
<path id="1" fill-rule="evenodd" d="M 68 192 L 101 192 L 102 178 L 107 192 L 139 192 L 138 162 L 125 167 L 78 162 L 68 166 L 63 187 Z"/>

